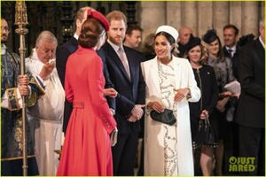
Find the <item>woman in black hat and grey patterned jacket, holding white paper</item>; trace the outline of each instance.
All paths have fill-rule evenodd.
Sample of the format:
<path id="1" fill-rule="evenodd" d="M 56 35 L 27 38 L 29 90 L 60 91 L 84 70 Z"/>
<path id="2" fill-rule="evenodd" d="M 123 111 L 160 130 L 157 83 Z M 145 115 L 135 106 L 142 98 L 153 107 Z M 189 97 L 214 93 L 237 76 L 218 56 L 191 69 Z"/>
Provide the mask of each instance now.
<path id="1" fill-rule="evenodd" d="M 219 125 L 219 143 L 215 149 L 215 172 L 217 175 L 223 175 L 223 140 L 229 137 L 229 122 L 226 121 L 226 112 L 229 107 L 229 99 L 232 96 L 230 91 L 224 89 L 224 86 L 235 78 L 232 72 L 232 64 L 230 58 L 224 58 L 222 43 L 216 35 L 215 29 L 210 29 L 203 36 L 203 41 L 207 43 L 208 58 L 207 65 L 211 65 L 215 69 L 216 81 L 219 89 L 219 101 L 216 104 L 215 113 L 218 116 Z"/>

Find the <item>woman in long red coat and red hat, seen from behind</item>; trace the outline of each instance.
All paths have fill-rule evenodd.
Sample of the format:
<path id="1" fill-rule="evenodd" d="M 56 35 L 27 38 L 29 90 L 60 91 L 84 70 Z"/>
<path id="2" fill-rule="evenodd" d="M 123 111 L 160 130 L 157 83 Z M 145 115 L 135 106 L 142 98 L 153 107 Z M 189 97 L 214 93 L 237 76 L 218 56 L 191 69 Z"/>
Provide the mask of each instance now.
<path id="1" fill-rule="evenodd" d="M 103 63 L 96 50 L 105 42 L 109 23 L 88 11 L 78 50 L 66 63 L 66 99 L 73 112 L 66 130 L 57 175 L 113 175 L 109 135 L 116 127 L 104 96 Z"/>

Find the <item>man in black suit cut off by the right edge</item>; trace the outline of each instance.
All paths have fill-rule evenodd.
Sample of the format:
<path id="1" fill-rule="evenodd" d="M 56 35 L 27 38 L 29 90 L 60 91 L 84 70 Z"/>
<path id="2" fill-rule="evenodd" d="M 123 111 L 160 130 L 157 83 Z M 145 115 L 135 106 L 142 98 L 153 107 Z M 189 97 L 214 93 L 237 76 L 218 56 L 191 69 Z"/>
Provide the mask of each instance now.
<path id="1" fill-rule="evenodd" d="M 239 53 L 241 95 L 236 121 L 239 123 L 239 156 L 255 158 L 254 172 L 265 176 L 265 39 L 264 18 L 260 36 Z"/>

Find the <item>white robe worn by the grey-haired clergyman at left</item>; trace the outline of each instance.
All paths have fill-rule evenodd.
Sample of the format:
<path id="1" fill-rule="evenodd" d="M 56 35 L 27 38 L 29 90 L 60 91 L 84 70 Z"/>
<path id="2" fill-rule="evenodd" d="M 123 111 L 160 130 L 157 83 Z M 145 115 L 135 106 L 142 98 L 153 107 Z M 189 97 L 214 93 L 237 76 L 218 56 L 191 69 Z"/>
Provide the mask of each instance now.
<path id="1" fill-rule="evenodd" d="M 56 175 L 61 149 L 61 132 L 65 102 L 65 91 L 54 68 L 45 81 L 38 76 L 43 63 L 37 57 L 35 49 L 31 57 L 26 58 L 26 70 L 43 82 L 45 95 L 37 104 L 27 108 L 27 119 L 32 137 L 35 137 L 35 157 L 40 175 Z"/>

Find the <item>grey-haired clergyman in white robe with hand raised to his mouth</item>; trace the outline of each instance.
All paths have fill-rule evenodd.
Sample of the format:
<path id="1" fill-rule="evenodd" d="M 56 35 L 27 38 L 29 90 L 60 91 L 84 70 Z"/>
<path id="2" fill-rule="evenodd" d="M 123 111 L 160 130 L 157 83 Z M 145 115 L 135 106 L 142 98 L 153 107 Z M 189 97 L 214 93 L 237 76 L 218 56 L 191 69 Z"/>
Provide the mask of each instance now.
<path id="1" fill-rule="evenodd" d="M 57 39 L 49 31 L 37 38 L 26 69 L 43 83 L 45 95 L 27 109 L 31 134 L 35 137 L 35 157 L 40 175 L 55 175 L 59 165 L 65 92 L 55 67 Z"/>

